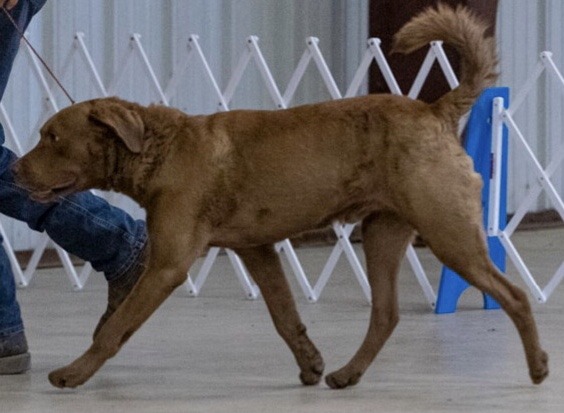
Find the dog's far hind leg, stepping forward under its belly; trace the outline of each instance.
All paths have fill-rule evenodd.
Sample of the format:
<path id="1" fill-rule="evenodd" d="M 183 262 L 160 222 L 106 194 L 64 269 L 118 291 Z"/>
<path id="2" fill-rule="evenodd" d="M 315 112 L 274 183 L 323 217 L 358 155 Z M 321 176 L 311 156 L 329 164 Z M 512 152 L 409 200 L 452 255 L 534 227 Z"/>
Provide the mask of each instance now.
<path id="1" fill-rule="evenodd" d="M 366 337 L 349 363 L 325 378 L 340 389 L 358 383 L 399 321 L 397 273 L 413 229 L 393 213 L 381 212 L 362 223 L 372 313 Z"/>

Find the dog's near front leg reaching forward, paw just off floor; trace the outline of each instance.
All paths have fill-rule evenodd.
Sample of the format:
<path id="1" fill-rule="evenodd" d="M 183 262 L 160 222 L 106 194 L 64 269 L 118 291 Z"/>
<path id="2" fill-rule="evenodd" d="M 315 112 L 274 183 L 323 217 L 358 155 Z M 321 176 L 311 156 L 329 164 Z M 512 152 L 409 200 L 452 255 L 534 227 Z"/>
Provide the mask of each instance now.
<path id="1" fill-rule="evenodd" d="M 167 231 L 170 225 L 170 222 L 149 222 L 151 251 L 147 270 L 102 326 L 90 348 L 73 363 L 49 374 L 49 381 L 55 387 L 77 387 L 85 383 L 186 280 L 188 268 L 201 253 L 205 241 L 195 235 L 197 231 L 181 234 L 178 228 Z"/>

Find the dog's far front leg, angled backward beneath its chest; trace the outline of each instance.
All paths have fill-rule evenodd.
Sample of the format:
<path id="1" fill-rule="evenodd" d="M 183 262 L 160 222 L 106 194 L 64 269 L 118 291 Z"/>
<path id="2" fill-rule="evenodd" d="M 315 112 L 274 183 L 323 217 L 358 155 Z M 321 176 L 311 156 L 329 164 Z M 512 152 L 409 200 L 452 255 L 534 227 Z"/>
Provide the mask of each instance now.
<path id="1" fill-rule="evenodd" d="M 236 249 L 260 288 L 276 330 L 288 344 L 300 367 L 305 385 L 319 383 L 324 363 L 300 320 L 280 258 L 272 245 Z"/>

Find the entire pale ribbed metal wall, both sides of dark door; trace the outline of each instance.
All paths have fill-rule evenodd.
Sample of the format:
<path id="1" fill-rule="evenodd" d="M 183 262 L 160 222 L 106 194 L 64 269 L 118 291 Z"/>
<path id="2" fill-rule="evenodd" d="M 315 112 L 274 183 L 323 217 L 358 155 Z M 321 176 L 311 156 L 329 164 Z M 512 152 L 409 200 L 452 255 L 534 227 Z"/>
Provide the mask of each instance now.
<path id="1" fill-rule="evenodd" d="M 66 71 L 64 84 L 76 100 L 98 95 L 84 79 L 80 63 L 65 68 L 74 33 L 85 33 L 86 45 L 108 85 L 127 53 L 131 33 L 142 35 L 142 44 L 157 78 L 166 84 L 186 52 L 190 34 L 198 34 L 204 54 L 225 88 L 249 35 L 260 38 L 260 47 L 273 76 L 283 90 L 305 49 L 305 38 L 320 38 L 320 48 L 339 88 L 344 92 L 356 70 L 367 38 L 368 0 L 50 0 L 29 28 L 29 38 L 57 73 Z M 552 50 L 564 69 L 564 2 L 561 0 L 500 0 L 498 44 L 501 81 L 518 90 L 535 66 L 542 50 Z M 202 81 L 200 67 L 190 68 L 180 82 L 172 105 L 192 113 L 210 113 L 217 98 Z M 250 69 L 232 107 L 273 108 L 266 88 Z M 157 99 L 146 82 L 139 82 L 139 67 L 131 67 L 118 92 L 122 97 L 149 103 Z M 134 80 L 137 79 L 137 80 Z M 560 146 L 564 129 L 562 95 L 550 93 L 551 80 L 535 92 L 519 112 L 519 125 L 544 160 Z M 56 89 L 54 89 L 56 90 Z M 55 92 L 60 106 L 64 96 Z M 319 74 L 308 70 L 293 103 L 328 99 Z M 47 116 L 36 76 L 25 53 L 20 53 L 3 99 L 14 127 L 27 150 L 37 139 L 37 128 Z M 550 136 L 550 137 L 548 137 Z M 509 208 L 514 208 L 530 185 L 528 168 L 519 154 L 511 156 Z M 564 187 L 559 170 L 558 185 Z M 119 201 L 135 215 L 131 202 Z M 535 208 L 542 209 L 546 202 Z M 25 225 L 1 218 L 16 249 L 33 246 L 35 236 Z"/>

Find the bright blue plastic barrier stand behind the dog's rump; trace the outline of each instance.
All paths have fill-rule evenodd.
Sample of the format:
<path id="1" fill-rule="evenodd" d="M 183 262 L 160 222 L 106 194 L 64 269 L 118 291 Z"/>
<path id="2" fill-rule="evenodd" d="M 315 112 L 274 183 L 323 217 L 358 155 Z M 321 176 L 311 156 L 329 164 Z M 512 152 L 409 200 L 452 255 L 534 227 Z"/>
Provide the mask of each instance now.
<path id="1" fill-rule="evenodd" d="M 484 181 L 482 189 L 482 207 L 484 211 L 484 226 L 487 225 L 488 199 L 490 191 L 490 176 L 492 171 L 492 106 L 496 97 L 502 97 L 507 107 L 509 105 L 509 88 L 486 89 L 477 99 L 466 127 L 464 148 L 474 160 L 474 169 Z M 499 227 L 505 228 L 507 217 L 507 129 L 503 128 L 503 157 L 501 166 L 501 199 Z M 497 237 L 488 237 L 490 257 L 494 264 L 505 272 L 505 250 Z M 470 287 L 464 279 L 448 267 L 443 267 L 437 295 L 437 314 L 454 313 L 458 299 Z M 499 304 L 487 294 L 484 294 L 484 309 L 499 309 Z"/>

